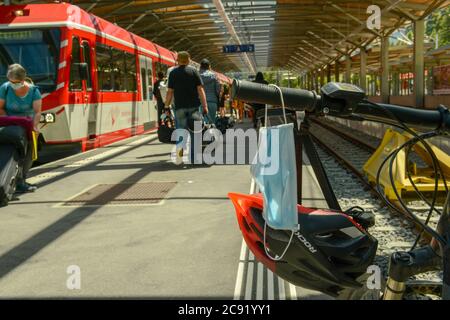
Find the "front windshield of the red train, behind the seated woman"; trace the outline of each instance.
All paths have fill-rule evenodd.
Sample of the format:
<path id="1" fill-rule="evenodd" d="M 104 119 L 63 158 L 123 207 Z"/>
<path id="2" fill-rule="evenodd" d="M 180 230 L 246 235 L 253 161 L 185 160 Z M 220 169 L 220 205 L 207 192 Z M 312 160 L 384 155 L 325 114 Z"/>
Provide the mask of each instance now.
<path id="1" fill-rule="evenodd" d="M 8 81 L 8 66 L 19 63 L 41 92 L 54 91 L 60 35 L 59 29 L 0 30 L 0 84 Z"/>

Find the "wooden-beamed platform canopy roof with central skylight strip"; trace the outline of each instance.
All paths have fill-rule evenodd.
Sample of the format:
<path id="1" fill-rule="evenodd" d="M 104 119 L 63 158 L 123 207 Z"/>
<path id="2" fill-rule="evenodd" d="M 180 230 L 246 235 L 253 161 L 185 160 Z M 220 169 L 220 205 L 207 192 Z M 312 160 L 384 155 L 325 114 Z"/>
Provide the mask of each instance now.
<path id="1" fill-rule="evenodd" d="M 12 3 L 54 1 L 12 0 Z M 282 67 L 317 69 L 351 55 L 449 4 L 447 0 L 73 0 L 83 9 L 172 50 L 209 58 L 226 71 Z M 1 3 L 1 1 L 0 1 Z M 381 9 L 381 29 L 369 29 L 367 9 Z M 249 54 L 227 44 L 254 44 Z"/>

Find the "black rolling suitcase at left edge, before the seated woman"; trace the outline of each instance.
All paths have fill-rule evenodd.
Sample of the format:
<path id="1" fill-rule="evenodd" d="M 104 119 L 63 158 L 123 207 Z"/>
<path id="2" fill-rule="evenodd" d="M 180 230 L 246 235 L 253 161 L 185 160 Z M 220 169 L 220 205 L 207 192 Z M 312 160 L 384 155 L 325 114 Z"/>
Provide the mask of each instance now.
<path id="1" fill-rule="evenodd" d="M 14 145 L 0 146 L 0 206 L 12 199 L 19 174 L 19 155 Z"/>

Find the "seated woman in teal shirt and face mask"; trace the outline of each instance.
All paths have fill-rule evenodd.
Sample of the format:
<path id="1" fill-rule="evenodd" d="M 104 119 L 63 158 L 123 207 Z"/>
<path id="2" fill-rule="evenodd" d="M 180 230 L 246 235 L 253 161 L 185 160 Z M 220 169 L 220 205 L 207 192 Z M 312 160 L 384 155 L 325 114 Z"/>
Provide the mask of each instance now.
<path id="1" fill-rule="evenodd" d="M 0 116 L 28 117 L 34 120 L 34 131 L 39 132 L 42 97 L 38 88 L 27 78 L 26 70 L 19 64 L 10 65 L 6 77 L 9 81 L 0 86 Z M 32 160 L 32 144 L 28 144 L 22 170 L 17 178 L 17 192 L 34 192 L 37 187 L 26 182 Z"/>

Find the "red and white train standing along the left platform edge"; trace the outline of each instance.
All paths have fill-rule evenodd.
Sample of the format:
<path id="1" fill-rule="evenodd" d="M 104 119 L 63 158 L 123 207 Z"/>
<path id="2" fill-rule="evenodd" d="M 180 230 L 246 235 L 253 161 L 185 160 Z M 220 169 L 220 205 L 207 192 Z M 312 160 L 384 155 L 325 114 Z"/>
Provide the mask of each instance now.
<path id="1" fill-rule="evenodd" d="M 47 144 L 104 146 L 157 127 L 152 85 L 174 52 L 67 3 L 0 6 L 0 83 L 22 64 L 43 94 Z M 229 79 L 218 74 L 222 82 Z"/>

